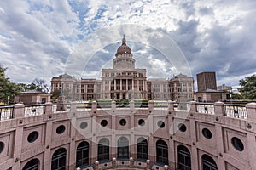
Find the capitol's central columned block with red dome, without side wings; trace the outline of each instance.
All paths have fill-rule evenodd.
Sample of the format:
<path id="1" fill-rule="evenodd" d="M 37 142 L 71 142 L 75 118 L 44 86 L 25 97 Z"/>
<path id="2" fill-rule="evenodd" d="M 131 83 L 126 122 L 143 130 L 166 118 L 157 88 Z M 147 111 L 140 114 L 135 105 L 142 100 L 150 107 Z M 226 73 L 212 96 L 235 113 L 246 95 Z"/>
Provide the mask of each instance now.
<path id="1" fill-rule="evenodd" d="M 136 69 L 125 36 L 113 59 L 113 69 L 102 69 L 102 99 L 148 99 L 146 69 Z"/>

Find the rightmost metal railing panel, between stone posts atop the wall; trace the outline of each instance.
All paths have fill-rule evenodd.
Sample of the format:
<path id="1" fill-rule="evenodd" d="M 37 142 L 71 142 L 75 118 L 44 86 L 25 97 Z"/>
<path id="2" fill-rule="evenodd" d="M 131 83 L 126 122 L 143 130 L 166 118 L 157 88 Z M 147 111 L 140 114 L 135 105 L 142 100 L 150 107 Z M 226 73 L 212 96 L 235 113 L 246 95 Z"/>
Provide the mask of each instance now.
<path id="1" fill-rule="evenodd" d="M 247 108 L 245 105 L 224 104 L 224 115 L 236 118 L 247 118 Z"/>

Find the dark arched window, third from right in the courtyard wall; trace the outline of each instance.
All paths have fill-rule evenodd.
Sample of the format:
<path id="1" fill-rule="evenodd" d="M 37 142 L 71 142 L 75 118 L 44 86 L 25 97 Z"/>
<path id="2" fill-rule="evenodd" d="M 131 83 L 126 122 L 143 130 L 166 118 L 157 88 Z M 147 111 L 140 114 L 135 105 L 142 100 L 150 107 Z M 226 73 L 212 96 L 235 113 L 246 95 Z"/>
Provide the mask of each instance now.
<path id="1" fill-rule="evenodd" d="M 168 165 L 168 146 L 164 140 L 156 142 L 156 162 Z"/>

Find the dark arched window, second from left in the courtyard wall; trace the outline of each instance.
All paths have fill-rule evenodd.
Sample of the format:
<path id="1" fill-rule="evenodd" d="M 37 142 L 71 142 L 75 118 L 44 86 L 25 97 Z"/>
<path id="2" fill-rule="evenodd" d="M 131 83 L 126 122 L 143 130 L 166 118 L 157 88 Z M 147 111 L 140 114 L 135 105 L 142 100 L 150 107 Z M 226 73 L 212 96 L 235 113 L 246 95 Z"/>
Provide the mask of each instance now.
<path id="1" fill-rule="evenodd" d="M 56 150 L 51 158 L 51 170 L 65 170 L 66 155 L 67 155 L 66 149 L 60 148 Z"/>

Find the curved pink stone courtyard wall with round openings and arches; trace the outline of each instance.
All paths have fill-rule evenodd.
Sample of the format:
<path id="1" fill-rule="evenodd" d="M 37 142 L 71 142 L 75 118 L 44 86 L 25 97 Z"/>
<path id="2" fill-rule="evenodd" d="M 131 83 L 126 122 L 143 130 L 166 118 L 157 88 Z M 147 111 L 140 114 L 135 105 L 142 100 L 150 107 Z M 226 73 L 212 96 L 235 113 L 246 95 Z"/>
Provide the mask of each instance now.
<path id="1" fill-rule="evenodd" d="M 59 147 L 66 147 L 67 151 L 69 150 L 68 154 L 73 159 L 68 160 L 69 162 L 67 162 L 67 166 L 73 166 L 70 167 L 70 169 L 75 169 L 73 152 L 73 150 L 76 149 L 75 144 L 79 144 L 80 141 L 87 139 L 96 141 L 98 137 L 102 138 L 105 135 L 108 135 L 109 139 L 113 139 L 112 141 L 115 141 L 117 137 L 120 136 L 119 133 L 102 131 L 103 128 L 100 127 L 100 124 L 97 128 L 96 123 L 90 123 L 90 121 L 98 120 L 100 122 L 102 117 L 108 116 L 109 119 L 105 119 L 111 122 L 108 123 L 109 129 L 122 130 L 124 128 L 119 126 L 119 119 L 117 119 L 119 115 L 114 114 L 118 112 L 125 112 L 125 114 L 127 114 L 124 115 L 127 116 L 131 111 L 133 111 L 132 113 L 138 111 L 138 114 L 131 114 L 131 116 L 127 116 L 127 122 L 130 122 L 127 124 L 131 125 L 131 127 L 136 127 L 135 124 L 138 123 L 138 120 L 140 118 L 144 118 L 148 121 L 148 124 L 144 126 L 146 129 L 145 131 L 147 132 L 131 129 L 125 131 L 124 134 L 126 136 L 131 135 L 134 141 L 135 135 L 149 136 L 148 144 L 150 149 L 148 148 L 148 152 L 150 153 L 148 153 L 148 159 L 152 161 L 156 161 L 154 156 L 155 141 L 157 139 L 165 139 L 166 143 L 169 144 L 172 149 L 169 150 L 169 166 L 172 167 L 172 169 L 177 167 L 177 164 L 175 164 L 177 162 L 177 157 L 175 156 L 177 155 L 176 150 L 178 144 L 188 146 L 192 154 L 191 159 L 194 162 L 201 161 L 201 155 L 203 155 L 204 151 L 204 153 L 211 154 L 215 157 L 215 161 L 218 162 L 219 169 L 224 169 L 225 166 L 228 166 L 225 165 L 225 162 L 229 162 L 229 166 L 235 164 L 234 166 L 237 168 L 239 167 L 239 169 L 241 169 L 242 166 L 246 166 L 245 168 L 256 167 L 256 163 L 253 161 L 253 158 L 256 156 L 256 103 L 249 103 L 247 105 L 225 105 L 222 102 L 206 104 L 196 102 L 174 103 L 172 101 L 165 101 L 160 105 L 155 104 L 154 101 L 149 101 L 148 107 L 137 108 L 134 102 L 131 101 L 129 105 L 119 107 L 113 101 L 108 108 L 100 109 L 97 107 L 96 102 L 92 102 L 90 108 L 81 103 L 58 105 L 53 105 L 52 103 L 46 103 L 44 105 L 16 104 L 8 107 L 0 107 L 1 118 L 7 117 L 1 119 L 3 122 L 0 123 L 0 135 L 3 138 L 2 142 L 6 144 L 4 147 L 8 148 L 7 145 L 10 145 L 8 149 L 4 150 L 6 152 L 9 151 L 9 153 L 6 153 L 6 155 L 2 153 L 3 158 L 0 157 L 0 169 L 9 169 L 10 167 L 13 169 L 22 169 L 26 162 L 35 156 L 38 156 L 41 166 L 44 164 L 44 169 L 49 169 L 50 156 L 52 156 L 51 154 L 53 154 L 55 149 Z M 206 107 L 207 109 L 205 109 Z M 200 111 L 200 109 L 202 111 Z M 207 112 L 210 110 L 212 110 L 212 112 Z M 85 111 L 88 111 L 88 114 L 84 113 Z M 108 115 L 104 113 L 104 111 L 109 111 L 109 113 L 113 113 L 113 115 Z M 87 128 L 88 131 L 87 129 L 84 130 L 86 131 L 86 138 L 81 135 L 77 135 L 77 129 L 81 127 L 79 119 L 84 117 L 86 120 L 89 120 L 89 128 Z M 122 115 L 119 116 L 119 118 L 121 117 Z M 157 122 L 164 119 L 166 127 L 158 128 Z M 76 126 L 71 126 L 72 122 L 78 122 L 78 124 L 75 124 L 78 125 L 78 128 L 76 128 Z M 179 126 L 180 124 L 186 125 L 185 127 L 187 131 L 180 128 L 183 127 Z M 56 133 L 56 129 L 61 126 L 65 126 L 70 130 L 59 135 Z M 175 129 L 176 127 L 177 129 Z M 212 133 L 202 133 L 205 128 Z M 157 130 L 154 131 L 153 129 Z M 29 134 L 33 133 L 33 131 L 37 131 L 39 133 L 39 139 L 35 144 L 30 143 L 27 140 Z M 60 138 L 59 136 L 61 135 L 62 137 Z M 204 135 L 206 135 L 207 138 L 210 138 L 209 136 L 211 136 L 212 139 L 207 139 Z M 234 138 L 236 140 L 234 140 Z M 242 148 L 244 151 L 239 151 L 241 148 L 238 151 L 234 149 L 238 143 L 233 144 L 234 147 L 232 146 L 232 142 L 236 142 L 237 139 L 241 139 L 241 142 L 244 144 L 244 148 Z M 91 142 L 90 145 L 91 149 L 93 148 L 96 150 L 96 144 Z M 229 150 L 227 149 L 228 147 Z M 116 150 L 112 151 L 113 152 L 111 152 L 111 154 L 116 157 Z M 112 161 L 107 163 L 97 163 L 96 152 L 90 151 L 90 153 L 90 167 L 84 167 L 82 169 L 89 170 L 97 167 L 98 169 L 115 168 L 112 160 L 113 156 L 110 156 Z M 136 157 L 135 148 L 131 150 L 130 156 Z M 92 163 L 94 164 L 91 165 Z M 132 165 L 132 168 L 134 169 L 147 166 L 145 162 L 137 160 L 134 160 Z M 116 168 L 130 169 L 130 166 L 132 165 L 131 160 L 116 160 Z M 151 169 L 165 169 L 164 166 L 154 163 L 151 163 L 150 165 Z M 198 167 L 200 167 L 200 165 L 192 165 L 192 167 L 193 166 L 194 169 L 199 169 Z"/>

